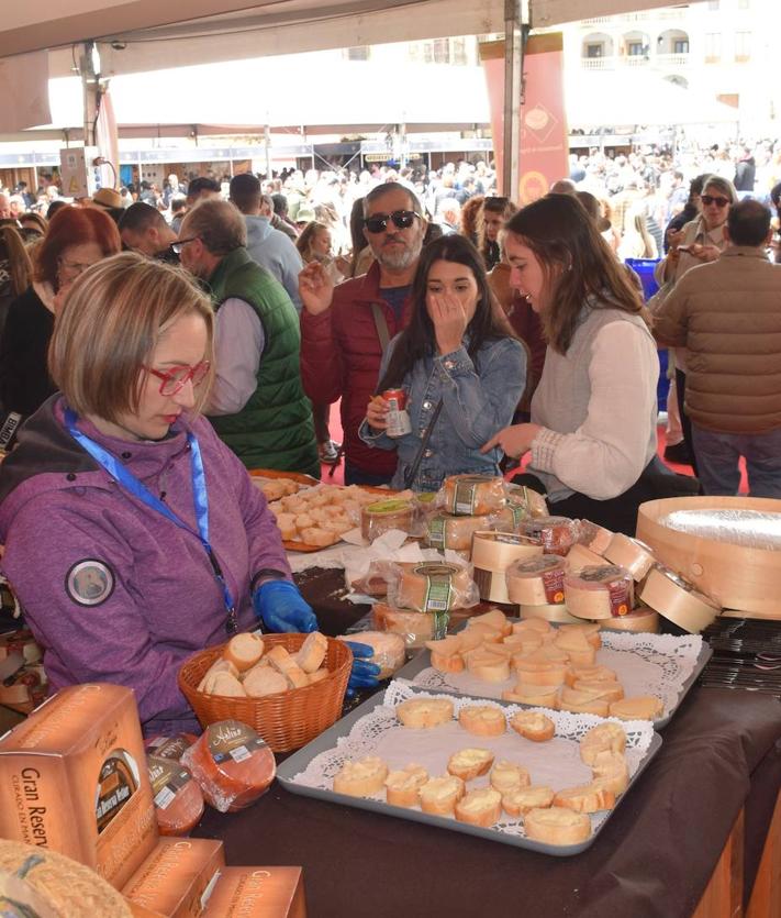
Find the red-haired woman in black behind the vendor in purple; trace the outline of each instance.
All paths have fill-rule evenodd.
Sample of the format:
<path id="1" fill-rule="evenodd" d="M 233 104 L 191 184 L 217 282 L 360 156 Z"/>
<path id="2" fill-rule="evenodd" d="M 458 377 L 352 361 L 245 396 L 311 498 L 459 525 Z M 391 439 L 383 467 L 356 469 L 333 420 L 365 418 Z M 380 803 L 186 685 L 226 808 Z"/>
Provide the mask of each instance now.
<path id="1" fill-rule="evenodd" d="M 3 445 L 55 391 L 46 366 L 55 306 L 82 272 L 121 248 L 116 224 L 100 210 L 64 207 L 52 218 L 35 255 L 33 283 L 9 307 L 0 341 Z"/>

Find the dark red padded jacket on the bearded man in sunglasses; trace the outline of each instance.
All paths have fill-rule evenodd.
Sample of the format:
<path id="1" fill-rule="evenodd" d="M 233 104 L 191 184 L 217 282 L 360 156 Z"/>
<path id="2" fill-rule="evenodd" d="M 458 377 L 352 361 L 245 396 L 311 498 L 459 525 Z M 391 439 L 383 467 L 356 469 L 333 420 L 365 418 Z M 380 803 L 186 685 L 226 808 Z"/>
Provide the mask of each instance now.
<path id="1" fill-rule="evenodd" d="M 380 296 L 380 266 L 345 280 L 334 290 L 331 308 L 320 316 L 301 312 L 301 378 L 304 391 L 317 402 L 342 398 L 342 428 L 347 458 L 361 472 L 391 476 L 395 452 L 372 450 L 358 436 L 366 406 L 377 388 L 382 347 L 371 303 L 379 303 L 390 338 L 410 321 L 410 297 L 404 300 L 402 321 Z"/>

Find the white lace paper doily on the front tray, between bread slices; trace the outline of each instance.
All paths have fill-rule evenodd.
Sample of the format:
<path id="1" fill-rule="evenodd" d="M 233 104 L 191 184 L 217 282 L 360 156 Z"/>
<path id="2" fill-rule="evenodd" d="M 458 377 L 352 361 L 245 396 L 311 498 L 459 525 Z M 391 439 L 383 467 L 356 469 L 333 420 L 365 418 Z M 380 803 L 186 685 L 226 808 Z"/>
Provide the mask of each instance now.
<path id="1" fill-rule="evenodd" d="M 507 728 L 501 737 L 476 737 L 464 730 L 454 718 L 450 723 L 429 730 L 414 730 L 402 727 L 395 717 L 395 706 L 409 698 L 448 698 L 453 701 L 455 717 L 468 705 L 490 705 L 502 710 L 507 718 L 516 711 L 528 710 L 520 705 L 498 705 L 491 700 L 475 698 L 457 698 L 449 695 L 436 695 L 428 692 L 413 689 L 409 683 L 393 681 L 386 689 L 382 704 L 355 722 L 349 734 L 339 737 L 334 749 L 328 749 L 316 755 L 303 772 L 299 772 L 293 783 L 316 787 L 321 790 L 332 790 L 334 776 L 348 760 L 361 759 L 365 755 L 379 755 L 390 771 L 403 768 L 416 763 L 423 765 L 432 777 L 447 773 L 447 760 L 454 752 L 467 746 L 490 749 L 495 760 L 506 759 L 526 768 L 532 784 L 542 784 L 562 790 L 566 787 L 577 787 L 592 781 L 592 772 L 580 759 L 579 740 L 592 727 L 604 722 L 602 718 L 589 714 L 568 714 L 551 711 L 547 708 L 535 708 L 543 711 L 556 725 L 556 735 L 547 742 L 536 743 L 526 740 Z M 634 776 L 640 762 L 648 753 L 654 728 L 648 721 L 629 720 L 616 721 L 626 731 L 626 762 L 629 775 Z M 489 785 L 489 776 L 476 778 L 468 783 L 468 789 Z M 384 805 L 384 794 L 377 794 L 368 799 Z M 398 810 L 394 808 L 394 812 Z M 592 834 L 610 816 L 610 812 L 598 812 L 591 816 Z M 433 817 L 442 820 L 448 828 L 459 830 L 459 823 L 454 817 Z M 522 819 L 513 818 L 502 812 L 501 821 L 492 829 L 500 834 L 525 838 Z M 499 839 L 501 840 L 501 839 Z"/>

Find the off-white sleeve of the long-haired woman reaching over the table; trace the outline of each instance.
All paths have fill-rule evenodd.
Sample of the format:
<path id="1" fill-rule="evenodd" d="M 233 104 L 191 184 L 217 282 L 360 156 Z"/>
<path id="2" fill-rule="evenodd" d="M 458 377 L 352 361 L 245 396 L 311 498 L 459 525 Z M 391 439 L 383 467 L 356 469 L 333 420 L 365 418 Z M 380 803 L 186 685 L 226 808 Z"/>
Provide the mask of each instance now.
<path id="1" fill-rule="evenodd" d="M 574 433 L 543 428 L 531 465 L 595 500 L 623 494 L 650 458 L 658 378 L 659 357 L 643 329 L 623 321 L 604 325 L 592 347 L 585 420 Z"/>

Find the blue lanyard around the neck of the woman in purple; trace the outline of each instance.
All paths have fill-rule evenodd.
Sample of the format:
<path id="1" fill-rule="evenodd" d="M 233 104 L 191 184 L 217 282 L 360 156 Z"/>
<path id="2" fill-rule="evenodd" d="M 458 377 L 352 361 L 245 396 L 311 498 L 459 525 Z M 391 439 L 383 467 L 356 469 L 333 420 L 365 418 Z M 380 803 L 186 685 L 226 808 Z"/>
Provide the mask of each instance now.
<path id="1" fill-rule="evenodd" d="M 225 622 L 225 630 L 228 634 L 235 634 L 238 630 L 238 620 L 236 618 L 236 607 L 231 596 L 231 590 L 227 587 L 225 577 L 220 567 L 220 562 L 216 560 L 214 550 L 209 542 L 209 495 L 207 493 L 207 476 L 203 472 L 203 457 L 201 456 L 201 447 L 198 443 L 198 438 L 194 433 L 188 432 L 187 442 L 190 444 L 190 469 L 192 473 L 192 498 L 196 505 L 196 519 L 198 520 L 198 531 L 191 529 L 183 520 L 179 519 L 177 515 L 164 504 L 159 498 L 140 482 L 135 475 L 127 471 L 127 468 L 112 455 L 108 450 L 99 446 L 89 436 L 81 433 L 76 428 L 78 417 L 71 408 L 65 409 L 65 423 L 68 432 L 91 456 L 99 463 L 122 487 L 130 491 L 133 497 L 146 504 L 147 507 L 161 513 L 172 523 L 194 535 L 203 545 L 203 549 L 209 557 L 212 572 L 217 583 L 222 587 L 223 601 L 225 604 L 225 611 L 227 612 L 227 621 Z"/>

